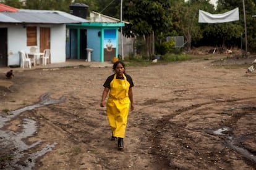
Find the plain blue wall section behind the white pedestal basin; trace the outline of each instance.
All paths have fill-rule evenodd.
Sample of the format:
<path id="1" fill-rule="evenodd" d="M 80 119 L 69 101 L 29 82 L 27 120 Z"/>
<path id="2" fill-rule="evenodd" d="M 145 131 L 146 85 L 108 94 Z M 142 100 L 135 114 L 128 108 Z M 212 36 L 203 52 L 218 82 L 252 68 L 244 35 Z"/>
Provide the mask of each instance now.
<path id="1" fill-rule="evenodd" d="M 100 30 L 87 30 L 87 48 L 93 49 L 91 60 L 95 62 L 100 62 L 100 36 L 98 32 Z"/>

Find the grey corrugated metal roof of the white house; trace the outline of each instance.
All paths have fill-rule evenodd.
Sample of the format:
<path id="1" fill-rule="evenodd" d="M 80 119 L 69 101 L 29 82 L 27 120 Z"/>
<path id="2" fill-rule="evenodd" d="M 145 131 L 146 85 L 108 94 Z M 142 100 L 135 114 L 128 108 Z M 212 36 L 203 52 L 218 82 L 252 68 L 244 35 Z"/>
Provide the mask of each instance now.
<path id="1" fill-rule="evenodd" d="M 18 12 L 0 12 L 0 23 L 81 23 L 89 22 L 75 15 L 59 10 L 27 10 Z"/>

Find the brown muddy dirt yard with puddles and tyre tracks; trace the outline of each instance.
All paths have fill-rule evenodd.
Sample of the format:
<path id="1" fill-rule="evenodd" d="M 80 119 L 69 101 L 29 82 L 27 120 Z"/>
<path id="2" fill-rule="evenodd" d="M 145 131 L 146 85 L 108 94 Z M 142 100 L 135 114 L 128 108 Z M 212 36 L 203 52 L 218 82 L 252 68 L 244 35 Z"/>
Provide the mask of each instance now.
<path id="1" fill-rule="evenodd" d="M 122 152 L 100 107 L 111 67 L 1 74 L 0 168 L 255 169 L 256 72 L 239 67 L 254 59 L 224 59 L 127 63 L 135 109 Z"/>

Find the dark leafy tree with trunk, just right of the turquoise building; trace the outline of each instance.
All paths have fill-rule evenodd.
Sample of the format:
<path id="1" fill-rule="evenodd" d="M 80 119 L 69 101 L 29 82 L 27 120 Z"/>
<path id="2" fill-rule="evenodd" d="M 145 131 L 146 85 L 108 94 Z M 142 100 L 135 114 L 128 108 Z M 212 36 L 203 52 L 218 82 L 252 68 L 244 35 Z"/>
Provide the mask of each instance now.
<path id="1" fill-rule="evenodd" d="M 124 28 L 124 34 L 144 37 L 148 56 L 155 53 L 155 33 L 168 30 L 170 2 L 134 0 L 123 4 L 123 18 L 130 23 Z"/>

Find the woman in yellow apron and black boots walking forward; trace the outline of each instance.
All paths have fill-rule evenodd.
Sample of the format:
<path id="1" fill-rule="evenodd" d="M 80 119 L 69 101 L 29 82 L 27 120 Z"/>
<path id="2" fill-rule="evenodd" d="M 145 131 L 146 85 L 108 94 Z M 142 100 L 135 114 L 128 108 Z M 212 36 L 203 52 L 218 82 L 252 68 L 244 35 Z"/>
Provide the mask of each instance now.
<path id="1" fill-rule="evenodd" d="M 134 83 L 130 75 L 125 72 L 126 68 L 123 62 L 117 61 L 113 65 L 114 74 L 109 76 L 103 86 L 105 87 L 102 98 L 101 107 L 105 107 L 105 99 L 108 95 L 106 103 L 106 112 L 108 115 L 109 125 L 112 129 L 111 140 L 118 140 L 117 146 L 119 150 L 124 149 L 124 136 L 126 132 L 127 117 L 130 110 L 134 110 L 134 99 L 132 87 Z"/>

